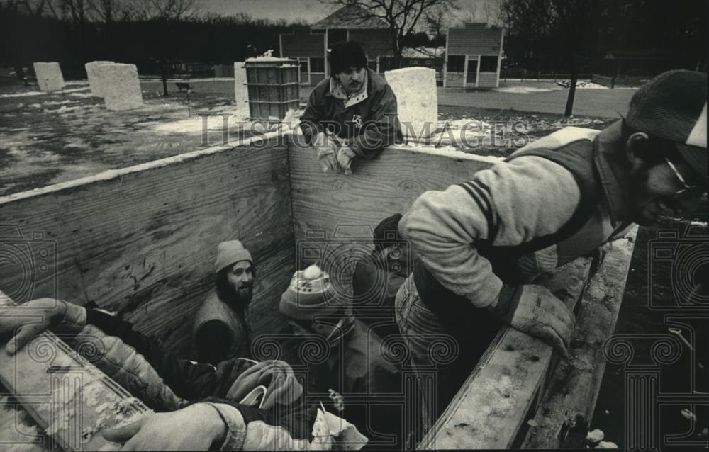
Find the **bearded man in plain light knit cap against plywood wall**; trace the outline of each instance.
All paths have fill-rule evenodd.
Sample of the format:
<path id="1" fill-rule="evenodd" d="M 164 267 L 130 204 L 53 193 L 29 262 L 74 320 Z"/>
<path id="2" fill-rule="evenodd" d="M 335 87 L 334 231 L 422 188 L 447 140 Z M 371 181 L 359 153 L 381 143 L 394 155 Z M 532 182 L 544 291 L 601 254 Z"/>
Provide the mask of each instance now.
<path id="1" fill-rule="evenodd" d="M 221 242 L 214 273 L 214 290 L 197 311 L 192 329 L 197 360 L 211 364 L 250 354 L 246 308 L 251 303 L 255 274 L 251 254 L 238 240 Z"/>

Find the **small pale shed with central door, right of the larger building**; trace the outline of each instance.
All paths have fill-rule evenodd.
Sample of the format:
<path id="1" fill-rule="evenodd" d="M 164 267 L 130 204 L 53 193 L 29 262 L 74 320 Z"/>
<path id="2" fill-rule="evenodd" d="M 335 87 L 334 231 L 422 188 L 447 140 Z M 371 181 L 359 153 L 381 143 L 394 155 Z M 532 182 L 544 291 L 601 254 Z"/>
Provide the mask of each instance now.
<path id="1" fill-rule="evenodd" d="M 503 28 L 487 23 L 465 23 L 463 28 L 449 28 L 443 86 L 497 88 L 503 40 Z"/>

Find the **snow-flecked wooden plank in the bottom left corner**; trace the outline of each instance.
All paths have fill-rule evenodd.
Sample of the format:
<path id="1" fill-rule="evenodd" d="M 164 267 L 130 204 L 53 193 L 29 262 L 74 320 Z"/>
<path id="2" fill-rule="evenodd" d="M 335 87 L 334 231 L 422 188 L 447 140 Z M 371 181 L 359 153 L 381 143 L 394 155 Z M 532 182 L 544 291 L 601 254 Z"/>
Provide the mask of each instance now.
<path id="1" fill-rule="evenodd" d="M 0 305 L 9 304 L 12 300 L 0 292 Z M 42 313 L 23 309 L 12 315 L 38 320 Z M 91 339 L 79 340 L 86 347 Z M 120 444 L 99 432 L 152 412 L 52 332 L 35 337 L 13 356 L 1 343 L 0 384 L 50 436 L 48 450 L 118 450 Z"/>

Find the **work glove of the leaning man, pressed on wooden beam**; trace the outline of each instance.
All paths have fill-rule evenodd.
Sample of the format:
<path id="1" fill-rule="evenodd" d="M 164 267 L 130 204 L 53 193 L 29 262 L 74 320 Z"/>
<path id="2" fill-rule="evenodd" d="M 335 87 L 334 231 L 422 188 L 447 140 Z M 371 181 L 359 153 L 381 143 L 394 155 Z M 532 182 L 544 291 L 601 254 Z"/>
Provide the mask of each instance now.
<path id="1" fill-rule="evenodd" d="M 506 286 L 492 308 L 502 322 L 554 347 L 569 356 L 574 315 L 549 289 L 527 284 Z"/>

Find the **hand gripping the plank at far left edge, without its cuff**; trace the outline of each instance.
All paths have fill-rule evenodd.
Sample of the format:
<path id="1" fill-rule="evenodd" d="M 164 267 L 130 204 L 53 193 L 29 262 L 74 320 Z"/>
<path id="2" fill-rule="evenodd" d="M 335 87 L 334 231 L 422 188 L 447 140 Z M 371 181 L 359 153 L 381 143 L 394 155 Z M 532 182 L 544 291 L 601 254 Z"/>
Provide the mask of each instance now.
<path id="1" fill-rule="evenodd" d="M 67 303 L 54 298 L 38 298 L 24 305 L 1 307 L 0 337 L 15 334 L 6 344 L 5 351 L 15 354 L 33 337 L 58 324 L 66 312 Z"/>

